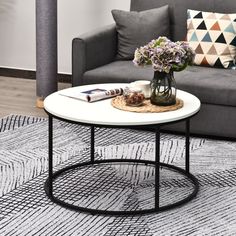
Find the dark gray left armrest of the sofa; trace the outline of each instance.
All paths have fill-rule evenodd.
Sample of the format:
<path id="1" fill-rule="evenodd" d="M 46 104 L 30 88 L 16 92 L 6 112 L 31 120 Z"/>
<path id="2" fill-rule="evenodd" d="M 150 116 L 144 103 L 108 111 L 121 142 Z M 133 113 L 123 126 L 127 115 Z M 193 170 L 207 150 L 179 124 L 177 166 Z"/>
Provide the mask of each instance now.
<path id="1" fill-rule="evenodd" d="M 117 53 L 115 24 L 83 34 L 72 41 L 72 86 L 83 84 L 87 70 L 114 61 Z"/>

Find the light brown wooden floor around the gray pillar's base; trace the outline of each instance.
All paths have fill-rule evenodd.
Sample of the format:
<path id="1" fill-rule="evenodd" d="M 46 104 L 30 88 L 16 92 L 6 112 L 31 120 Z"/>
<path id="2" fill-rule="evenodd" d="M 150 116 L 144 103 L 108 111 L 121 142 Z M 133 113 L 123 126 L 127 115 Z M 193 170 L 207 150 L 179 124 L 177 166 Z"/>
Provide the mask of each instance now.
<path id="1" fill-rule="evenodd" d="M 59 89 L 71 87 L 59 83 Z M 0 117 L 10 114 L 47 117 L 43 109 L 36 107 L 36 81 L 0 76 Z"/>

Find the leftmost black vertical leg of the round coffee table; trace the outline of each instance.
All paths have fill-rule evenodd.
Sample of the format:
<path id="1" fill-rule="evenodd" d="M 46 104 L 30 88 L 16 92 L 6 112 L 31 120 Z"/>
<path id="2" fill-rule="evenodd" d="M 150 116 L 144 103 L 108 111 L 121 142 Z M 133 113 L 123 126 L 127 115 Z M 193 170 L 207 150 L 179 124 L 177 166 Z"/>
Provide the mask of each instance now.
<path id="1" fill-rule="evenodd" d="M 48 117 L 48 191 L 50 197 L 53 192 L 53 118 Z"/>

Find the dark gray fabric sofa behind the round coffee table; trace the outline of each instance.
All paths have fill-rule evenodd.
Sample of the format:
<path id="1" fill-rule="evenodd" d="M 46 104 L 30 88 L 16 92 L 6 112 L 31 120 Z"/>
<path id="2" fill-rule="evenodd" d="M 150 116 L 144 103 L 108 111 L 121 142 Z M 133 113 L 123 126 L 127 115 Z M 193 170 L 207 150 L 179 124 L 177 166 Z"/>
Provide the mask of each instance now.
<path id="1" fill-rule="evenodd" d="M 171 39 L 186 36 L 187 9 L 236 13 L 232 0 L 131 0 L 130 10 L 142 11 L 169 5 Z M 131 82 L 152 79 L 153 70 L 137 68 L 132 61 L 115 60 L 115 25 L 74 38 L 72 43 L 72 85 Z M 236 70 L 191 66 L 175 73 L 179 89 L 196 95 L 201 111 L 191 120 L 191 132 L 222 138 L 236 138 Z M 183 131 L 182 124 L 167 129 Z"/>

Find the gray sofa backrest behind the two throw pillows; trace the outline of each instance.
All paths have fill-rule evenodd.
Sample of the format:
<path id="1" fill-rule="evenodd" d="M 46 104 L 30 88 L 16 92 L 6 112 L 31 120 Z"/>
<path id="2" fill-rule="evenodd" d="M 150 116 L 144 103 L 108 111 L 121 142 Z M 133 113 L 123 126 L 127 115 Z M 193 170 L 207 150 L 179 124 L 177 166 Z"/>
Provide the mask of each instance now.
<path id="1" fill-rule="evenodd" d="M 143 11 L 169 5 L 171 39 L 185 40 L 187 9 L 219 13 L 236 13 L 235 0 L 131 0 L 131 11 Z"/>

